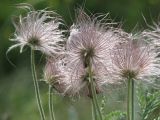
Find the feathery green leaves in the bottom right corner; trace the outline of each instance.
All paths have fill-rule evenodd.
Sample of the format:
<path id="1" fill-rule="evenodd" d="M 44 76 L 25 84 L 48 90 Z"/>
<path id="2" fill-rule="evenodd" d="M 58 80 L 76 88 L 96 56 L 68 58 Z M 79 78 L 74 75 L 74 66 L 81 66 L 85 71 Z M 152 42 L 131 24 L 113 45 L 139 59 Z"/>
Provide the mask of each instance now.
<path id="1" fill-rule="evenodd" d="M 145 89 L 139 86 L 137 89 L 138 103 L 141 108 L 139 112 L 141 120 L 160 119 L 160 90 Z"/>

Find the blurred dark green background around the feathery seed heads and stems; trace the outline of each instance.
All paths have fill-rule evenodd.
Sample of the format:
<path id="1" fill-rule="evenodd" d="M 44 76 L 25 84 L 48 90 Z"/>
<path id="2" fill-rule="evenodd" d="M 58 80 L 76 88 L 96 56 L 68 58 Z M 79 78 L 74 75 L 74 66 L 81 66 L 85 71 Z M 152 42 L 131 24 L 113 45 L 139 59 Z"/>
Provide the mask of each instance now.
<path id="1" fill-rule="evenodd" d="M 17 48 L 7 54 L 16 67 L 6 57 L 8 47 L 13 44 L 9 41 L 14 33 L 11 18 L 21 13 L 14 7 L 17 3 L 29 3 L 35 9 L 49 7 L 63 17 L 68 28 L 75 19 L 76 8 L 81 6 L 88 13 L 109 12 L 114 21 L 123 23 L 122 28 L 127 32 L 145 29 L 147 26 L 143 16 L 152 25 L 153 21 L 158 21 L 160 13 L 160 0 L 0 0 L 0 120 L 40 119 L 31 77 L 29 49 L 26 48 L 20 54 Z M 39 53 L 36 58 L 39 79 L 42 79 L 44 61 L 40 60 Z M 40 82 L 40 87 L 47 111 L 48 86 Z M 113 110 L 125 111 L 125 88 L 119 89 L 111 88 L 105 97 L 100 95 L 105 100 L 106 113 Z M 91 120 L 89 98 L 70 100 L 56 95 L 54 105 L 57 120 Z"/>

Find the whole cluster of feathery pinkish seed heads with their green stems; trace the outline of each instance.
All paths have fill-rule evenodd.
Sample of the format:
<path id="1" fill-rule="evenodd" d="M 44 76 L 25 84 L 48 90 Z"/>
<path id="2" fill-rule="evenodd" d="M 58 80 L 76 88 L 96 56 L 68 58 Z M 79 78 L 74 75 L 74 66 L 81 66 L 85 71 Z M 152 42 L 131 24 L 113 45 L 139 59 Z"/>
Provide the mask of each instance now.
<path id="1" fill-rule="evenodd" d="M 35 50 L 46 57 L 43 79 L 49 85 L 51 120 L 55 120 L 53 90 L 66 96 L 88 96 L 92 101 L 93 120 L 104 120 L 98 94 L 104 92 L 108 84 L 123 82 L 128 83 L 127 120 L 135 120 L 134 82 L 152 82 L 150 77 L 160 73 L 159 27 L 134 37 L 114 23 L 109 14 L 89 16 L 78 9 L 67 38 L 63 34 L 65 30 L 60 30 L 63 20 L 57 13 L 48 9 L 34 10 L 28 4 L 18 6 L 28 12 L 13 21 L 15 33 L 10 40 L 15 44 L 7 52 L 16 47 L 20 47 L 20 52 L 25 46 L 31 48 L 31 70 L 41 120 L 46 120 L 46 115 L 36 74 Z M 146 42 L 146 38 L 151 41 Z"/>

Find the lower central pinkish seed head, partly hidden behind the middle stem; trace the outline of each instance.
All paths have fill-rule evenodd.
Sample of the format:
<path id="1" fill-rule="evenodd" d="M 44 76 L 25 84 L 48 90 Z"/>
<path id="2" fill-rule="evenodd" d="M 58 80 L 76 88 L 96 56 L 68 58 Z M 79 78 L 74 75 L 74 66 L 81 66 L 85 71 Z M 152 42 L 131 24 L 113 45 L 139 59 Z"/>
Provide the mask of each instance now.
<path id="1" fill-rule="evenodd" d="M 91 85 L 89 83 L 88 69 L 87 68 L 81 69 L 78 72 L 79 73 L 76 74 L 75 69 L 70 69 L 68 71 L 68 76 L 69 76 L 68 78 L 70 83 L 68 84 L 69 87 L 67 89 L 67 92 L 70 95 L 80 94 L 80 95 L 92 97 Z M 94 86 L 97 94 L 103 91 L 102 85 L 104 84 L 103 82 L 106 82 L 104 80 L 105 78 L 103 78 L 104 76 L 100 73 L 101 73 L 100 71 L 96 73 L 96 71 L 92 70 L 92 78 L 93 78 L 93 82 L 94 82 Z"/>

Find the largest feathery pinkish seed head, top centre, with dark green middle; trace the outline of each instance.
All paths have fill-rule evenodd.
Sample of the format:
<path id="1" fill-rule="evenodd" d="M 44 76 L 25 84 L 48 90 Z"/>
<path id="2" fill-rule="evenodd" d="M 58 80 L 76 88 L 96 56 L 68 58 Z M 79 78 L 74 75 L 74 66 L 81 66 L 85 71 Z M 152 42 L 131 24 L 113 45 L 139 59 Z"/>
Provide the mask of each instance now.
<path id="1" fill-rule="evenodd" d="M 118 41 L 113 28 L 107 30 L 105 25 L 98 22 L 98 17 L 92 19 L 80 11 L 76 23 L 71 27 L 66 48 L 73 64 L 87 67 L 91 62 L 92 66 L 96 66 L 108 60 L 110 49 Z"/>

